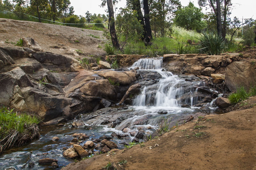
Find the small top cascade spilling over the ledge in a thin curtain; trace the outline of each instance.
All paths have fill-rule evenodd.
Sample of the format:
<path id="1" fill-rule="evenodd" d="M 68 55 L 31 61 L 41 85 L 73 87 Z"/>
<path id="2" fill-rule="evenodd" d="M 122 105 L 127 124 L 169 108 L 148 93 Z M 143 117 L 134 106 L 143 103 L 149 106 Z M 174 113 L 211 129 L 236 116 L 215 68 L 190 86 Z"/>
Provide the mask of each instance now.
<path id="1" fill-rule="evenodd" d="M 141 58 L 133 63 L 131 68 L 139 67 L 140 70 L 158 70 L 162 68 L 162 57 L 159 58 Z"/>

